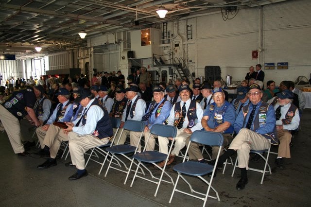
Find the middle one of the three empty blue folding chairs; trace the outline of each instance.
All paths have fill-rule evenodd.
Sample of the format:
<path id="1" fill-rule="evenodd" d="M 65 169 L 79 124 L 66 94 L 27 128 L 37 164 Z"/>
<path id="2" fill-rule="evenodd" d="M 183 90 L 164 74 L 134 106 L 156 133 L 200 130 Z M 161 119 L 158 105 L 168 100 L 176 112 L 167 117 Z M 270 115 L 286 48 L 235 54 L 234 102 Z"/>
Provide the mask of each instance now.
<path id="1" fill-rule="evenodd" d="M 171 155 L 173 143 L 174 143 L 174 140 L 175 140 L 175 137 L 176 137 L 176 134 L 177 134 L 177 129 L 174 126 L 169 126 L 169 125 L 164 125 L 164 124 L 154 124 L 152 126 L 151 130 L 150 130 L 150 135 L 148 136 L 148 138 L 146 140 L 146 143 L 148 143 L 151 134 L 157 135 L 157 136 L 161 136 L 161 137 L 173 138 L 173 140 L 171 142 L 171 145 L 170 145 L 169 152 L 168 152 L 168 154 L 164 154 L 164 153 L 160 153 L 160 152 L 156 152 L 156 151 L 146 151 L 146 145 L 147 144 L 145 144 L 143 152 L 137 153 L 137 154 L 133 155 L 132 163 L 134 162 L 134 159 L 136 159 L 138 161 L 138 165 L 137 165 L 137 169 L 135 171 L 135 174 L 134 174 L 134 177 L 133 177 L 133 180 L 132 180 L 132 183 L 131 183 L 131 187 L 133 186 L 135 178 L 139 177 L 139 178 L 141 178 L 143 180 L 146 180 L 146 181 L 149 181 L 149 182 L 157 184 L 157 188 L 155 190 L 155 196 L 156 196 L 157 191 L 159 190 L 161 181 L 174 184 L 173 178 L 168 173 L 165 172 L 165 168 L 166 168 L 166 163 L 168 162 L 169 156 Z M 165 160 L 165 164 L 164 164 L 164 167 L 161 168 L 156 163 L 161 162 L 163 160 Z M 162 173 L 160 175 L 160 178 L 155 177 L 153 175 L 153 173 L 144 164 L 142 164 L 141 162 L 152 163 L 153 165 L 155 165 L 156 168 L 161 170 Z M 131 163 L 130 169 L 132 167 L 132 163 Z M 148 179 L 146 177 L 138 175 L 137 174 L 138 173 L 138 167 L 140 165 L 144 169 L 146 169 L 150 173 L 152 179 L 155 179 L 156 181 L 150 180 L 150 179 Z M 126 179 L 125 179 L 124 183 L 126 183 L 126 180 L 128 178 L 129 173 L 130 173 L 130 171 L 127 173 L 127 176 L 126 176 Z M 171 179 L 171 181 L 162 180 L 162 177 L 163 177 L 164 173 Z"/>

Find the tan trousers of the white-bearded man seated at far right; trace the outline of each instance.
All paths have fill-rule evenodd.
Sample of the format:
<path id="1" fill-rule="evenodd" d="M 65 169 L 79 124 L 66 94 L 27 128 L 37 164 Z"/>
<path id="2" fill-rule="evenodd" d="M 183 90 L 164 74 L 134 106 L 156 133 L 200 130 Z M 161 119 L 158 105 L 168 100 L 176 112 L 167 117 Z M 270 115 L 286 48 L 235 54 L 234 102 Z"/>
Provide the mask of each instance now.
<path id="1" fill-rule="evenodd" d="M 291 158 L 290 143 L 292 140 L 292 134 L 286 129 L 278 130 L 276 134 L 280 141 L 277 156 Z"/>

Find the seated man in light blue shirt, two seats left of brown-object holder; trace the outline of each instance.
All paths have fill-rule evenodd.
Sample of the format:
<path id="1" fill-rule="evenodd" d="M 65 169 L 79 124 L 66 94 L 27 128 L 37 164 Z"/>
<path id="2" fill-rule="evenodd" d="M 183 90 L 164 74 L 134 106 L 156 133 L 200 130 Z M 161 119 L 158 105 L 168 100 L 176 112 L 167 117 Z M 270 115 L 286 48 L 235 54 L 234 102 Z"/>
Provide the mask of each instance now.
<path id="1" fill-rule="evenodd" d="M 58 93 L 55 95 L 57 95 L 59 104 L 57 104 L 56 108 L 54 109 L 47 123 L 43 125 L 42 127 L 39 127 L 35 130 L 37 137 L 40 141 L 40 145 L 41 145 L 41 151 L 39 151 L 37 155 L 42 155 L 42 156 L 50 155 L 50 148 L 49 146 L 44 145 L 44 138 L 45 138 L 45 135 L 47 134 L 49 127 L 52 125 L 52 123 L 54 121 L 62 121 L 62 122 L 70 121 L 70 119 L 69 120 L 65 119 L 71 107 L 71 104 L 69 101 L 69 98 L 70 98 L 69 91 L 66 88 L 59 88 Z"/>

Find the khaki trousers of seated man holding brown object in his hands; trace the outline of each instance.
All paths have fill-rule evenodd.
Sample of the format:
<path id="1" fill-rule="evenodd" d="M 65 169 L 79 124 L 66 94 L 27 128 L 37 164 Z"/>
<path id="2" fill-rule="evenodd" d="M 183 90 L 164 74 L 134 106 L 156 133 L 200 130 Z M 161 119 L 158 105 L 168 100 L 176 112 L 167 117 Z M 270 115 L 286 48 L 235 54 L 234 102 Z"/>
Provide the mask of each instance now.
<path id="1" fill-rule="evenodd" d="M 84 154 L 87 150 L 107 144 L 109 138 L 99 139 L 93 135 L 79 136 L 75 132 L 68 133 L 71 162 L 78 170 L 85 169 Z"/>

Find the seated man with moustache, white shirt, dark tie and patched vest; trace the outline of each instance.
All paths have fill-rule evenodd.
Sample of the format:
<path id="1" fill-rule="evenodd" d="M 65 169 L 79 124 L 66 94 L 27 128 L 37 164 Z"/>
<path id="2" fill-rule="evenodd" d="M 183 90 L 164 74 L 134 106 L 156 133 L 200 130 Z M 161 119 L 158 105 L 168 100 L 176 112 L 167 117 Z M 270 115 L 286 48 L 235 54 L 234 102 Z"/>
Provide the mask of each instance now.
<path id="1" fill-rule="evenodd" d="M 186 138 L 189 138 L 195 130 L 201 130 L 201 121 L 203 110 L 199 103 L 190 99 L 190 87 L 183 85 L 179 87 L 180 102 L 173 105 L 170 116 L 167 119 L 168 125 L 177 127 L 177 135 L 175 138 L 175 147 L 171 152 L 167 165 L 170 165 L 175 155 L 186 145 Z M 168 138 L 158 137 L 159 146 L 162 153 L 168 153 Z"/>

